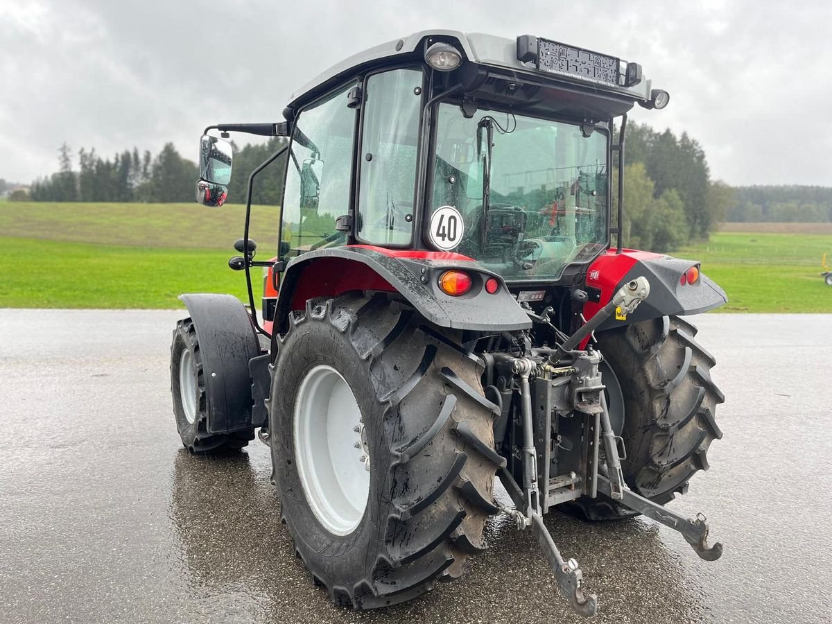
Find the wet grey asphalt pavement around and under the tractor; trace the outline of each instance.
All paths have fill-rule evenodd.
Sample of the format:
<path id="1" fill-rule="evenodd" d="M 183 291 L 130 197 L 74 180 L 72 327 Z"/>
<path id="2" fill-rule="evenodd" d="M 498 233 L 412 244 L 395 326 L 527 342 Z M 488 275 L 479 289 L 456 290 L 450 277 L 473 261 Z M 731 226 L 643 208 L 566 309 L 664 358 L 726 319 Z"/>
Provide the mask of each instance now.
<path id="1" fill-rule="evenodd" d="M 181 316 L 0 310 L 0 622 L 583 621 L 505 517 L 458 581 L 386 611 L 334 607 L 292 554 L 265 446 L 181 448 Z M 830 622 L 832 314 L 696 322 L 725 437 L 671 506 L 706 513 L 721 560 L 644 519 L 547 526 L 597 593 L 595 622 Z"/>

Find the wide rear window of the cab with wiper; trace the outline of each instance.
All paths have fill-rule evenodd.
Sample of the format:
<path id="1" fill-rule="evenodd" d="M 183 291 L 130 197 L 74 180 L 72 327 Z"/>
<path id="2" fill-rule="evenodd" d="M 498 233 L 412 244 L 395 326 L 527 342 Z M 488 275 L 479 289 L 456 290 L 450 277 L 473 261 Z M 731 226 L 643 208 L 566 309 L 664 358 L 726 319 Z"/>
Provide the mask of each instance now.
<path id="1" fill-rule="evenodd" d="M 607 246 L 607 204 L 605 132 L 439 105 L 432 211 L 462 216 L 458 253 L 509 281 L 557 280 Z"/>

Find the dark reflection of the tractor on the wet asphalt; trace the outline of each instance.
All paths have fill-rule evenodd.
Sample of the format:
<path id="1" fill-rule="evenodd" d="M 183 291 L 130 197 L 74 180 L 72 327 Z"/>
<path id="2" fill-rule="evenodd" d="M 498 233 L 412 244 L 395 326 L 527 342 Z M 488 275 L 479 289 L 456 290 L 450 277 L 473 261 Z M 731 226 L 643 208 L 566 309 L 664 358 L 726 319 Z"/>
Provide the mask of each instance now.
<path id="1" fill-rule="evenodd" d="M 463 579 L 384 612 L 332 607 L 292 554 L 289 533 L 279 520 L 280 503 L 269 483 L 268 456 L 258 450 L 252 449 L 256 459 L 248 454 L 201 458 L 184 450 L 176 453 L 171 519 L 191 591 L 206 597 L 206 607 L 219 601 L 211 611 L 224 613 L 234 604 L 248 616 L 260 612 L 278 622 L 290 621 L 285 619 L 289 613 L 297 621 L 348 617 L 352 622 L 475 622 L 516 618 L 513 610 L 520 602 L 522 622 L 551 622 L 556 615 L 567 622 L 581 619 L 557 595 L 531 533 L 518 533 L 508 517 L 490 522 L 488 554 L 473 560 Z M 686 583 L 678 557 L 662 544 L 655 525 L 635 520 L 587 526 L 555 514 L 547 518 L 547 526 L 565 552 L 592 571 L 593 591 L 603 597 L 626 592 L 616 602 L 604 602 L 602 621 L 619 609 L 631 622 L 703 619 L 697 599 L 701 587 Z M 631 551 L 624 559 L 617 555 L 622 547 Z M 656 602 L 652 592 L 659 592 L 661 600 Z M 620 615 L 616 618 L 622 621 Z"/>

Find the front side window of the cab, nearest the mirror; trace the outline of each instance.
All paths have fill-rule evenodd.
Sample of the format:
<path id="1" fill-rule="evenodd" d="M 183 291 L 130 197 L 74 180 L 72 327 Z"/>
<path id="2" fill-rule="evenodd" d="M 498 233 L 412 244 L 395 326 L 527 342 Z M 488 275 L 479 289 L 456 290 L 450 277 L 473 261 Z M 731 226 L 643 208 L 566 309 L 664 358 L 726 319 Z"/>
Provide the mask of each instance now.
<path id="1" fill-rule="evenodd" d="M 349 210 L 355 111 L 334 92 L 300 111 L 292 135 L 283 197 L 283 235 L 296 253 L 344 245 L 335 220 Z"/>

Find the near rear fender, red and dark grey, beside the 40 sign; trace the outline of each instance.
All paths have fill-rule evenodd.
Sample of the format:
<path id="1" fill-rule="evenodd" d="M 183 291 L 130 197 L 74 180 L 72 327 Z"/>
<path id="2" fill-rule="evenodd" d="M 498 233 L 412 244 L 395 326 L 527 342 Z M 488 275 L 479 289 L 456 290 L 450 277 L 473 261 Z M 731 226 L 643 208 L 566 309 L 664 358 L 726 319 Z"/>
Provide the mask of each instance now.
<path id="1" fill-rule="evenodd" d="M 445 270 L 465 270 L 473 286 L 452 297 L 438 287 Z M 494 277 L 499 289 L 484 289 Z M 532 323 L 503 278 L 464 255 L 418 250 L 389 250 L 348 245 L 300 255 L 286 267 L 278 296 L 275 330 L 285 333 L 292 310 L 304 310 L 315 297 L 337 297 L 351 290 L 399 293 L 430 323 L 451 329 L 503 331 L 527 329 Z"/>

